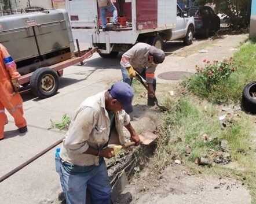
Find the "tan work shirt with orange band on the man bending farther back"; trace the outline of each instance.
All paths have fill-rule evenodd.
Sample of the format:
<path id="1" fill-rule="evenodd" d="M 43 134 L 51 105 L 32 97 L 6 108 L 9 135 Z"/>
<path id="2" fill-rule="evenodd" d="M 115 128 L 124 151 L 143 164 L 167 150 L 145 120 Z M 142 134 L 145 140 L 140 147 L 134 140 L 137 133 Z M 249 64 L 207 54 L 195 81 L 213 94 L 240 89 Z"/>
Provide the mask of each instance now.
<path id="1" fill-rule="evenodd" d="M 137 43 L 123 54 L 120 62 L 124 68 L 132 66 L 138 73 L 141 73 L 146 68 L 146 80 L 148 84 L 153 83 L 157 66 L 148 61 L 150 47 L 151 45 L 147 43 Z"/>

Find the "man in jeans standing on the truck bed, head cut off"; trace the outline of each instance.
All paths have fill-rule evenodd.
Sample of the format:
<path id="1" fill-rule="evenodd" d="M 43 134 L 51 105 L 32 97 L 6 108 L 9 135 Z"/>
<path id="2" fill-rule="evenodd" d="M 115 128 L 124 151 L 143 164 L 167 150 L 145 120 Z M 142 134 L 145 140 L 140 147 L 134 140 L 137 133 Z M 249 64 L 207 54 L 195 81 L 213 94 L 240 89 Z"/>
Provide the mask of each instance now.
<path id="1" fill-rule="evenodd" d="M 101 27 L 103 28 L 103 31 L 106 29 L 107 25 L 107 11 L 111 12 L 113 14 L 113 24 L 118 24 L 118 11 L 116 10 L 116 7 L 114 3 L 111 0 L 97 0 L 98 1 L 98 7 L 100 8 L 100 20 L 101 20 Z"/>

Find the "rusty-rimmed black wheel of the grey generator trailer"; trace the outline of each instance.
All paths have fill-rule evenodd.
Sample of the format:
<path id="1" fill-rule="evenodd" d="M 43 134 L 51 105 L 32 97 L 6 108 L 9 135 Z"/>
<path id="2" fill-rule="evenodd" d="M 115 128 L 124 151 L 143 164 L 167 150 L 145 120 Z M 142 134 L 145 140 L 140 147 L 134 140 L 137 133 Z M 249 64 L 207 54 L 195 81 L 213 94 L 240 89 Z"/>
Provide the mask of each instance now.
<path id="1" fill-rule="evenodd" d="M 52 97 L 58 91 L 58 74 L 50 68 L 36 69 L 30 78 L 30 85 L 36 97 Z"/>

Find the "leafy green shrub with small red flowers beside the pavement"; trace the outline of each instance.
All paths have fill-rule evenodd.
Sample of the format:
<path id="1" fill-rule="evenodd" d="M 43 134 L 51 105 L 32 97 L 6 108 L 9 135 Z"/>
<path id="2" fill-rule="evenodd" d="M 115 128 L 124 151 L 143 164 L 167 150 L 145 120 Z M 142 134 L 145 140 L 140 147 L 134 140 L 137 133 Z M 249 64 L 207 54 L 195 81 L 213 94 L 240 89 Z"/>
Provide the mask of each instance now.
<path id="1" fill-rule="evenodd" d="M 213 103 L 228 103 L 231 98 L 226 95 L 236 81 L 231 79 L 231 73 L 236 71 L 237 64 L 233 58 L 224 61 L 210 62 L 203 60 L 203 66 L 196 66 L 195 75 L 189 77 L 184 83 L 188 90 L 199 97 L 205 98 Z"/>

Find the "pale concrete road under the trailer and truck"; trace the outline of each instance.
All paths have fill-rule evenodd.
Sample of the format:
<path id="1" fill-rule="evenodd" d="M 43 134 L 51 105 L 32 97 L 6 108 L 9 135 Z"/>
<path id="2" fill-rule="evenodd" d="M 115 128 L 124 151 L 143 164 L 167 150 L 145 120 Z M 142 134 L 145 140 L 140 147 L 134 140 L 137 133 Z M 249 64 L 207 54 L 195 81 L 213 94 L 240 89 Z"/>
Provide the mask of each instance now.
<path id="1" fill-rule="evenodd" d="M 204 47 L 208 53 L 198 52 L 197 47 L 200 47 L 204 40 L 196 41 L 189 47 L 182 46 L 181 42 L 167 43 L 164 51 L 168 56 L 164 63 L 158 66 L 156 74 L 169 71 L 194 72 L 195 65 L 203 58 L 221 60 L 231 56 L 239 42 L 246 38 L 247 35 L 225 36 L 224 39 Z M 182 54 L 179 54 L 189 49 L 192 51 L 188 56 L 182 57 Z M 38 99 L 31 93 L 23 94 L 29 131 L 24 135 L 17 132 L 13 118 L 8 116 L 5 139 L 0 141 L 0 176 L 61 139 L 63 132 L 47 129 L 50 127 L 50 119 L 60 121 L 65 113 L 72 116 L 83 99 L 104 90 L 112 81 L 120 80 L 122 75 L 119 62 L 120 55 L 116 59 L 103 59 L 94 54 L 85 65 L 75 65 L 64 70 L 58 93 L 53 97 Z M 159 79 L 158 82 L 171 81 Z M 61 191 L 54 168 L 54 150 L 51 150 L 0 183 L 0 203 L 35 204 L 53 201 Z"/>

